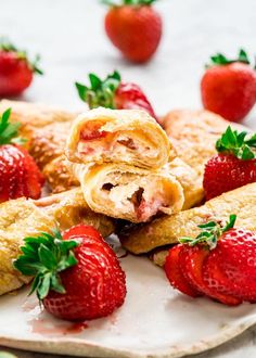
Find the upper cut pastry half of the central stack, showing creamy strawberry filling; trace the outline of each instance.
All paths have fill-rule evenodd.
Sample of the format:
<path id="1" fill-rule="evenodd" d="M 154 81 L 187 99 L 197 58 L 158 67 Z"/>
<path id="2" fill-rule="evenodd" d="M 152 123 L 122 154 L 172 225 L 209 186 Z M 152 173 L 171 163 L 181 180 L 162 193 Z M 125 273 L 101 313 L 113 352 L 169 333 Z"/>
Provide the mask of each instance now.
<path id="1" fill-rule="evenodd" d="M 66 156 L 75 163 L 125 163 L 156 169 L 175 154 L 165 131 L 148 113 L 95 108 L 74 122 Z"/>

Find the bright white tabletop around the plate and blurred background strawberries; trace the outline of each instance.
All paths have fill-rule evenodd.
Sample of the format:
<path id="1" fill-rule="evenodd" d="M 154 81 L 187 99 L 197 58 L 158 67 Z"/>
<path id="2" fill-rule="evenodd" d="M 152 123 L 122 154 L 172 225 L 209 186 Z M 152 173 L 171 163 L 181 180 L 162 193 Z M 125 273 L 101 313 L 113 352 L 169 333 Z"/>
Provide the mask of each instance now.
<path id="1" fill-rule="evenodd" d="M 159 114 L 197 108 L 200 78 L 210 54 L 234 55 L 240 47 L 256 53 L 256 0 L 162 0 L 156 8 L 164 17 L 164 38 L 154 60 L 142 66 L 124 61 L 108 42 L 105 8 L 98 0 L 0 0 L 0 36 L 42 55 L 46 75 L 22 99 L 82 108 L 74 81 L 87 81 L 89 72 L 105 76 L 116 68 L 125 80 L 141 85 Z M 256 128 L 256 111 L 245 124 Z M 21 358 L 53 358 L 9 351 Z M 193 357 L 242 356 L 256 356 L 256 328 Z"/>

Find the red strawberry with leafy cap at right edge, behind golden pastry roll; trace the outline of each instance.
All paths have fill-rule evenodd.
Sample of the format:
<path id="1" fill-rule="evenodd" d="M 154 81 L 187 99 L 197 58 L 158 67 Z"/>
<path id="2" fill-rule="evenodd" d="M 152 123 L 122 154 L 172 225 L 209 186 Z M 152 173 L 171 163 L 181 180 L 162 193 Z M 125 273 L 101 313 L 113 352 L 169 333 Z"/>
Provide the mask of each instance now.
<path id="1" fill-rule="evenodd" d="M 204 171 L 206 200 L 256 181 L 256 133 L 228 127 Z"/>

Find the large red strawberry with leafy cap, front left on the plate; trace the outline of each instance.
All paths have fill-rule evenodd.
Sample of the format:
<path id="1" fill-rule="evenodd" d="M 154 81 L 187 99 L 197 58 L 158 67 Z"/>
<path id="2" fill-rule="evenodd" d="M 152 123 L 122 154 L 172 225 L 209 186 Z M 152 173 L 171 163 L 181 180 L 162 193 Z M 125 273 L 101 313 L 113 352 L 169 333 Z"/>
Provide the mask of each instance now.
<path id="1" fill-rule="evenodd" d="M 105 317 L 124 304 L 126 279 L 113 250 L 92 227 L 79 225 L 63 235 L 26 238 L 14 267 L 36 276 L 36 291 L 53 316 L 71 321 Z"/>

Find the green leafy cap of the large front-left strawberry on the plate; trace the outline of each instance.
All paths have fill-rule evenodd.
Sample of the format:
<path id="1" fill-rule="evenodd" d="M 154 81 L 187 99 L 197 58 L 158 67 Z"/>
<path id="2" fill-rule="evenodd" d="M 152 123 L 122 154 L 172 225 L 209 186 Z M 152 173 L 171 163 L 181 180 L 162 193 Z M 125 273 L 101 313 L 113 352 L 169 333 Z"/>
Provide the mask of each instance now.
<path id="1" fill-rule="evenodd" d="M 77 264 L 73 250 L 78 242 L 64 241 L 60 231 L 52 230 L 52 234 L 41 232 L 38 236 L 25 238 L 24 243 L 23 254 L 13 266 L 24 276 L 35 277 L 29 294 L 36 291 L 39 301 L 46 298 L 50 290 L 64 294 L 60 272 Z"/>

